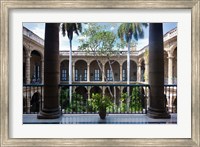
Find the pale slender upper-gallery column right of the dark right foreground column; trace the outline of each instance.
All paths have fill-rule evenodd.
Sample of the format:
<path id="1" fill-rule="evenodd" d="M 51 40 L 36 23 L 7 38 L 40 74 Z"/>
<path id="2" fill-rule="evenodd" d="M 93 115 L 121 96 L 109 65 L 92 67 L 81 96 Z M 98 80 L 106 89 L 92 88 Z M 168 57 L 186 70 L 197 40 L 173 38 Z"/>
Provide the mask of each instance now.
<path id="1" fill-rule="evenodd" d="M 173 84 L 173 56 L 168 55 L 168 84 Z"/>

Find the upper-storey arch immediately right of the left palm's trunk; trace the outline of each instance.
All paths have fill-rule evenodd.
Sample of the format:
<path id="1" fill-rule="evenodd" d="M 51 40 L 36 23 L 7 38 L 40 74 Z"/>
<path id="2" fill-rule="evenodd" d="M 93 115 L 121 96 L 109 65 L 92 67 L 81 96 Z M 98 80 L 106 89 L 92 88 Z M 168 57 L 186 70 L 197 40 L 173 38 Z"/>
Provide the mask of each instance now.
<path id="1" fill-rule="evenodd" d="M 85 60 L 75 62 L 75 81 L 87 81 L 87 62 Z"/>

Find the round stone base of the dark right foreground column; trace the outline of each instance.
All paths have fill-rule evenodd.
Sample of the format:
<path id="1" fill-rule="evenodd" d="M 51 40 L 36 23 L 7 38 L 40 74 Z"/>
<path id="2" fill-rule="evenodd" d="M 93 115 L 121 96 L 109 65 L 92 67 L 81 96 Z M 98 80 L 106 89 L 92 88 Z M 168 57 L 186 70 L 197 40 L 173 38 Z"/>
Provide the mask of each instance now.
<path id="1" fill-rule="evenodd" d="M 155 119 L 169 119 L 171 115 L 166 110 L 149 108 L 147 111 L 147 116 Z"/>

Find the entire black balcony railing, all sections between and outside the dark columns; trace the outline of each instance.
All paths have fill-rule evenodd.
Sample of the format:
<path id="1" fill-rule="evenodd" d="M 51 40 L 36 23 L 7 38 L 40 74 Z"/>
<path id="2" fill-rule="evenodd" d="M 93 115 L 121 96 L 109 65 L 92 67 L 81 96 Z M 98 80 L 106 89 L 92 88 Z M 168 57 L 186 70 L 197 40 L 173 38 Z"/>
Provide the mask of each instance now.
<path id="1" fill-rule="evenodd" d="M 72 87 L 70 103 L 69 87 Z M 166 109 L 170 113 L 177 111 L 177 85 L 165 85 Z M 60 106 L 64 114 L 91 114 L 98 110 L 91 106 L 93 94 L 99 93 L 112 101 L 107 113 L 145 114 L 149 107 L 149 85 L 147 84 L 60 84 Z M 128 92 L 129 91 L 129 94 Z M 43 85 L 24 85 L 23 112 L 38 113 L 43 107 Z"/>

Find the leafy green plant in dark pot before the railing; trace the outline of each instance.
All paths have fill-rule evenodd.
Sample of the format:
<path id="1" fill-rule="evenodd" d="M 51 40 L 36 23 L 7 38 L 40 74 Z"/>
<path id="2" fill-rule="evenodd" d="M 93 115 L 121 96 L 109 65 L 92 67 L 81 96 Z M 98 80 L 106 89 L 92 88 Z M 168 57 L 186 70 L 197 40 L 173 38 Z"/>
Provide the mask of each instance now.
<path id="1" fill-rule="evenodd" d="M 94 110 L 98 110 L 101 119 L 106 118 L 106 110 L 113 105 L 109 97 L 102 96 L 99 93 L 93 93 L 89 103 Z"/>

